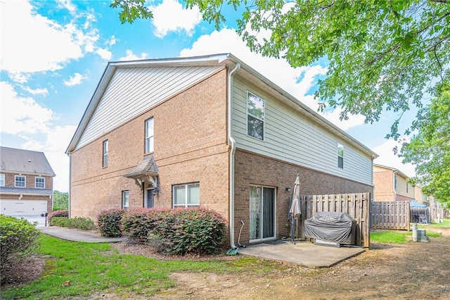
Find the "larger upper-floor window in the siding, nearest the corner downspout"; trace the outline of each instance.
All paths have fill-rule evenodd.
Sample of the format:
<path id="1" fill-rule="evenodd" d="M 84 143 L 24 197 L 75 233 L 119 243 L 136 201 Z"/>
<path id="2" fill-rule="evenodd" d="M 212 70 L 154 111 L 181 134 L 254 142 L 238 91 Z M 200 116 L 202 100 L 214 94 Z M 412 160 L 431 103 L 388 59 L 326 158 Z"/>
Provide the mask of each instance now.
<path id="1" fill-rule="evenodd" d="M 265 101 L 247 92 L 247 135 L 264 140 Z"/>

